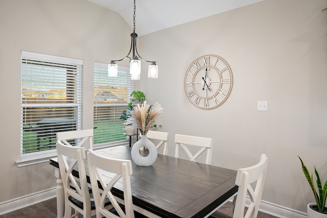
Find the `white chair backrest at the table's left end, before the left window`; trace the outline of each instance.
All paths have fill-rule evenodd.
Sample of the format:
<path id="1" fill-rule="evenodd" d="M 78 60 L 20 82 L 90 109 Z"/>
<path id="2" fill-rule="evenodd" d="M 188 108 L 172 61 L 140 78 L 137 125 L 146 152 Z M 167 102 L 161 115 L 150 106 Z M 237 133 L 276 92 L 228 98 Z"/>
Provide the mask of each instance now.
<path id="1" fill-rule="evenodd" d="M 76 143 L 77 147 L 83 147 L 85 149 L 93 149 L 93 129 L 88 130 L 75 130 L 67 132 L 57 132 L 57 142 L 65 144 L 66 146 L 72 146 L 73 142 Z M 69 140 L 71 139 L 71 140 Z M 88 144 L 85 143 L 88 141 Z"/>

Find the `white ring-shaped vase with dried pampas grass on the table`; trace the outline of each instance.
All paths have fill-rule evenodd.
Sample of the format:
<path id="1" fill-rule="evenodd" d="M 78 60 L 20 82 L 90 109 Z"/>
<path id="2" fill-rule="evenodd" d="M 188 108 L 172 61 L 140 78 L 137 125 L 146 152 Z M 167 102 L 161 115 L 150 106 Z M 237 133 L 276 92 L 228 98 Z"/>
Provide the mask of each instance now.
<path id="1" fill-rule="evenodd" d="M 159 103 L 148 105 L 145 101 L 142 106 L 136 105 L 131 112 L 131 117 L 127 119 L 129 124 L 126 128 L 137 128 L 141 133 L 141 139 L 136 141 L 131 150 L 131 156 L 137 165 L 150 166 L 157 159 L 157 149 L 152 141 L 147 137 L 149 129 L 153 126 L 154 120 L 161 115 L 164 108 Z M 144 157 L 139 153 L 141 148 L 147 148 L 149 155 Z"/>

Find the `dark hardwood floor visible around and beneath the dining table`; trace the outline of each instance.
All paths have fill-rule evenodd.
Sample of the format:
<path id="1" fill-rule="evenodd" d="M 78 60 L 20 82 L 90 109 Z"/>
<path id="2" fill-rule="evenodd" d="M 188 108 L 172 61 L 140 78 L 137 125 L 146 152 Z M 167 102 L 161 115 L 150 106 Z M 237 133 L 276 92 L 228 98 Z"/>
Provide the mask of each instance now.
<path id="1" fill-rule="evenodd" d="M 56 218 L 57 217 L 56 204 L 57 204 L 56 198 L 54 198 L 10 213 L 6 213 L 4 215 L 0 215 L 0 218 Z M 232 203 L 230 202 L 226 203 L 219 209 L 219 211 L 227 215 L 232 215 Z M 277 218 L 277 217 L 259 212 L 258 218 Z"/>

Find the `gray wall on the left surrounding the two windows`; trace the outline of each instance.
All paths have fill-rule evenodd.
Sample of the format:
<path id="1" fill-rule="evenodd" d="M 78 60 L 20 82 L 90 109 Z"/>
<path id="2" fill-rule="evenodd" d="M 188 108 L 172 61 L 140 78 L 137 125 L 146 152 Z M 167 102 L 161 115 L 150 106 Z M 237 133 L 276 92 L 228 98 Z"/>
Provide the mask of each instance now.
<path id="1" fill-rule="evenodd" d="M 20 144 L 20 51 L 84 60 L 83 128 L 93 125 L 94 62 L 129 49 L 131 28 L 117 13 L 81 0 L 0 1 L 0 202 L 56 186 L 49 163 L 17 167 Z"/>

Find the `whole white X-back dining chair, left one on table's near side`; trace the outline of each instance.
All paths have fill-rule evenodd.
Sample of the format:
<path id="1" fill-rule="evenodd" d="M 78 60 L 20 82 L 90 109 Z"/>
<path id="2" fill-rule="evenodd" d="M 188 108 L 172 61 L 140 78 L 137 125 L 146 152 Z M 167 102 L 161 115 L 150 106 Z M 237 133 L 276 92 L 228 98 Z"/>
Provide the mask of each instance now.
<path id="1" fill-rule="evenodd" d="M 64 217 L 90 217 L 96 214 L 95 202 L 91 201 L 89 188 L 86 181 L 85 164 L 86 149 L 82 147 L 72 147 L 57 143 L 57 155 L 60 175 L 64 189 L 65 212 Z M 78 175 L 74 174 L 74 169 Z M 110 205 L 107 201 L 106 206 Z M 109 206 L 110 207 L 110 206 Z M 72 209 L 75 213 L 72 214 Z"/>

